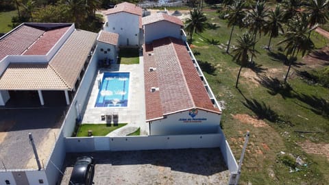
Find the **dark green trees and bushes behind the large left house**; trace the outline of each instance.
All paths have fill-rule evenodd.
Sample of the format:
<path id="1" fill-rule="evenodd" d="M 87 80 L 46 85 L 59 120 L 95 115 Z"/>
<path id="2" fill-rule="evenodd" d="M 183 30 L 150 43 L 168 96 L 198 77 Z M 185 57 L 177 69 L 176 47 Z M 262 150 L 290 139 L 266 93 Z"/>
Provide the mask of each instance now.
<path id="1" fill-rule="evenodd" d="M 136 0 L 129 0 L 134 2 Z M 120 0 L 2 0 L 1 11 L 17 10 L 12 27 L 25 22 L 75 23 L 75 27 L 98 32 L 103 24 L 96 10 L 108 9 Z"/>

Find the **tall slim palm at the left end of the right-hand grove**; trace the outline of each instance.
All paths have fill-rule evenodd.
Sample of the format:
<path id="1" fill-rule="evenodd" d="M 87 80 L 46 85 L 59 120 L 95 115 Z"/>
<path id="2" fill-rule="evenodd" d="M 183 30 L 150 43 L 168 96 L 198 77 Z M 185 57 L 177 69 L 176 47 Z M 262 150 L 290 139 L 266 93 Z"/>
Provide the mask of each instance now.
<path id="1" fill-rule="evenodd" d="M 228 40 L 228 48 L 226 49 L 226 53 L 228 53 L 228 50 L 230 49 L 234 26 L 241 26 L 243 24 L 242 20 L 245 17 L 245 11 L 243 10 L 244 6 L 244 1 L 234 1 L 232 5 L 228 5 L 228 14 L 225 16 L 228 18 L 228 27 L 232 26 L 232 29 L 230 33 L 230 39 Z"/>

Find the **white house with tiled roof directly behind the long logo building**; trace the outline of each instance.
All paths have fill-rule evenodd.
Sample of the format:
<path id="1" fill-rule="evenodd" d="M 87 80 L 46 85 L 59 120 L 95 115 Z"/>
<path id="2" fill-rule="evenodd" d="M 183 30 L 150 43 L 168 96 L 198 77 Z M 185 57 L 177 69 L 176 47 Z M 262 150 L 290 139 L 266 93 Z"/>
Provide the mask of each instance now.
<path id="1" fill-rule="evenodd" d="M 145 43 L 165 37 L 182 38 L 182 21 L 164 13 L 151 14 L 142 18 Z"/>

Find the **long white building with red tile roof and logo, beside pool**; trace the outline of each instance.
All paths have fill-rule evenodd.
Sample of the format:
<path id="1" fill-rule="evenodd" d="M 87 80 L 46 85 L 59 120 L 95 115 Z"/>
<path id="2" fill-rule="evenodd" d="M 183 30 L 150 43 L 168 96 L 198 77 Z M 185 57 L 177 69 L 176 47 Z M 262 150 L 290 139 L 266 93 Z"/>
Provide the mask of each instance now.
<path id="1" fill-rule="evenodd" d="M 161 38 L 144 49 L 146 121 L 150 135 L 217 133 L 221 110 L 178 38 Z"/>

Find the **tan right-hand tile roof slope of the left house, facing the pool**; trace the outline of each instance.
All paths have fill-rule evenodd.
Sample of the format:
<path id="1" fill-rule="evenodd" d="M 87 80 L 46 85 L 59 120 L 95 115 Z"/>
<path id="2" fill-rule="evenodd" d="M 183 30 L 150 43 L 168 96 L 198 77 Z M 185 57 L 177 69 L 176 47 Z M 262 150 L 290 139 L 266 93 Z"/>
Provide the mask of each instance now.
<path id="1" fill-rule="evenodd" d="M 49 62 L 69 88 L 74 88 L 96 38 L 93 32 L 76 29 Z"/>

